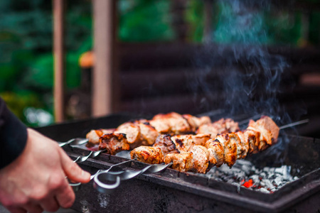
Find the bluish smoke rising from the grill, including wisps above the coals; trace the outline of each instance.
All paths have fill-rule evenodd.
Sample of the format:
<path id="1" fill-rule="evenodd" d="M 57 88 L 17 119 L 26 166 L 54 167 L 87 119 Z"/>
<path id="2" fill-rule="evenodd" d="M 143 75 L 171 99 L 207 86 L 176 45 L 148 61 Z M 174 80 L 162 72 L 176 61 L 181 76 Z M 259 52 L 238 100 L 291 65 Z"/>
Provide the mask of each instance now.
<path id="1" fill-rule="evenodd" d="M 227 116 L 265 114 L 277 124 L 289 124 L 292 116 L 279 103 L 279 94 L 292 89 L 294 82 L 288 81 L 287 59 L 271 54 L 268 48 L 270 38 L 264 15 L 271 8 L 270 1 L 220 0 L 215 6 L 220 14 L 211 35 L 213 45 L 206 47 L 204 54 L 199 53 L 196 60 L 198 67 L 203 67 L 198 73 L 198 87 L 210 91 L 212 84 L 219 84 L 220 91 L 215 93 L 223 94 L 224 100 L 218 107 L 225 109 Z M 214 82 L 206 81 L 208 70 L 216 76 Z M 283 77 L 287 80 L 285 85 Z M 296 119 L 305 111 L 299 106 L 294 113 Z M 266 153 L 279 153 L 275 158 L 282 161 L 288 142 L 287 137 L 279 138 L 277 146 Z"/>

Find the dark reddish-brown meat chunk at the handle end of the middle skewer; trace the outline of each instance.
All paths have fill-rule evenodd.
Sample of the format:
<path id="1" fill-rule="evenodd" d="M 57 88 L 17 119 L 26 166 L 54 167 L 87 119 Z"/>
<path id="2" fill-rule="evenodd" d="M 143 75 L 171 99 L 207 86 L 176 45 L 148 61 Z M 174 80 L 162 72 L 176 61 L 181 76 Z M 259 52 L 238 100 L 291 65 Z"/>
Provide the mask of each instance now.
<path id="1" fill-rule="evenodd" d="M 129 150 L 130 146 L 125 134 L 109 133 L 100 137 L 99 149 L 106 149 L 107 153 L 115 155 L 119 151 Z"/>

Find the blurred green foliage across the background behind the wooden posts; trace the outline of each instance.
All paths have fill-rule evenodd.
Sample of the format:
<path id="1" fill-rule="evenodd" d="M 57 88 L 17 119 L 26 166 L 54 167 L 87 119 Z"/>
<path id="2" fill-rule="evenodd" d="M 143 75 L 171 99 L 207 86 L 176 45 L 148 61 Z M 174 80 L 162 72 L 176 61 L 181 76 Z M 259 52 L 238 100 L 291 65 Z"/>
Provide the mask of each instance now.
<path id="1" fill-rule="evenodd" d="M 66 80 L 68 89 L 73 89 L 80 84 L 80 55 L 92 49 L 92 2 L 66 2 Z M 183 17 L 188 26 L 186 42 L 202 43 L 203 1 L 187 2 Z M 309 13 L 309 40 L 305 41 L 302 40 L 302 11 L 256 11 L 257 18 L 251 23 L 255 31 L 244 31 L 240 27 L 246 17 L 244 14 L 240 18 L 236 16 L 230 2 L 233 1 L 215 1 L 213 4 L 211 39 L 214 43 L 319 46 L 318 11 Z M 170 0 L 119 0 L 119 41 L 174 42 L 177 30 L 171 4 Z M 23 111 L 34 107 L 53 113 L 52 2 L 0 1 L 0 18 L 0 96 L 26 124 L 37 126 L 37 122 L 27 121 Z M 235 21 L 239 21 L 239 28 L 225 27 Z"/>

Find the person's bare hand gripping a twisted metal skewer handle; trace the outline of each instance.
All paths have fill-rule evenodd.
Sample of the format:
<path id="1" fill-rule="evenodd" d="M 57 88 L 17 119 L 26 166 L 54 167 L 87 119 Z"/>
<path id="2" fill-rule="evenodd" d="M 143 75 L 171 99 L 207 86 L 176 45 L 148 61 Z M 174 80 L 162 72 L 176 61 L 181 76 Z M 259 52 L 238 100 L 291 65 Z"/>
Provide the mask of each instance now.
<path id="1" fill-rule="evenodd" d="M 89 182 L 83 171 L 58 143 L 28 129 L 23 153 L 0 170 L 0 202 L 10 212 L 55 212 L 73 205 L 75 194 L 66 176 L 75 182 Z"/>

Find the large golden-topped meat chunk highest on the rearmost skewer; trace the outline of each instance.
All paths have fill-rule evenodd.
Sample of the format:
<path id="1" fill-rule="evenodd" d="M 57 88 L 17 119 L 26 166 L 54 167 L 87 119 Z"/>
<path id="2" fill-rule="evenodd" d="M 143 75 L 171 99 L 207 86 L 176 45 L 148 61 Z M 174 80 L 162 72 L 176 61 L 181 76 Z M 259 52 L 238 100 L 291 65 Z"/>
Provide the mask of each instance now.
<path id="1" fill-rule="evenodd" d="M 188 121 L 176 112 L 157 114 L 149 121 L 159 133 L 180 134 L 191 132 Z"/>

